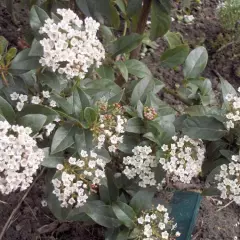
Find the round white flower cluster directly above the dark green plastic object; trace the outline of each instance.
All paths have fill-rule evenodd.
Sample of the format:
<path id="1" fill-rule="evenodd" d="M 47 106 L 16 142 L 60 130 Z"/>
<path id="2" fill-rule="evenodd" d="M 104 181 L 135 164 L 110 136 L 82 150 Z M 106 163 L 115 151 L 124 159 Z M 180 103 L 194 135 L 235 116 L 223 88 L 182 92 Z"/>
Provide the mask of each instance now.
<path id="1" fill-rule="evenodd" d="M 201 172 L 205 147 L 201 140 L 196 141 L 188 136 L 174 136 L 172 139 L 174 143 L 162 146 L 164 156 L 159 162 L 172 181 L 190 183 Z"/>

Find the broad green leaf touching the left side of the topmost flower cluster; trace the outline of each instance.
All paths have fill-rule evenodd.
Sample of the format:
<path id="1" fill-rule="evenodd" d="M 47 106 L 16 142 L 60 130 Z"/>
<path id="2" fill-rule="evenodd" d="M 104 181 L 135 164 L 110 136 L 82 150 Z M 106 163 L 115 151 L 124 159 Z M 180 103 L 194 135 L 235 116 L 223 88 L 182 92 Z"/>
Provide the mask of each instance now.
<path id="1" fill-rule="evenodd" d="M 24 49 L 17 54 L 9 68 L 11 73 L 22 74 L 30 70 L 37 69 L 41 66 L 39 63 L 39 58 L 28 56 L 29 52 L 30 49 Z"/>

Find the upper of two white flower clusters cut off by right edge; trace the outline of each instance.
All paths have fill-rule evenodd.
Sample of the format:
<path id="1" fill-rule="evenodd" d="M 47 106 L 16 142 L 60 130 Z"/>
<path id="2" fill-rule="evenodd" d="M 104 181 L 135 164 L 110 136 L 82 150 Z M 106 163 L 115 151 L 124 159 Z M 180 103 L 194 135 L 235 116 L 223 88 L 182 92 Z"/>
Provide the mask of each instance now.
<path id="1" fill-rule="evenodd" d="M 238 88 L 240 92 L 240 88 Z M 229 112 L 226 114 L 228 119 L 226 122 L 227 129 L 234 128 L 240 123 L 240 97 L 233 94 L 227 94 L 226 100 L 229 103 Z"/>

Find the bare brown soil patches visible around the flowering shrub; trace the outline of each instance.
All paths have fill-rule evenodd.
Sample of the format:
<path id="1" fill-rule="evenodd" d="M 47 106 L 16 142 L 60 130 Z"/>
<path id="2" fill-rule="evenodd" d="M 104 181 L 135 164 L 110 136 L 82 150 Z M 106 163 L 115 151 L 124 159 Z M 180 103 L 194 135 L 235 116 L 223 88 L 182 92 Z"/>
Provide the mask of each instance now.
<path id="1" fill-rule="evenodd" d="M 19 38 L 29 29 L 28 15 L 25 7 L 16 0 L 14 9 L 19 24 L 13 24 L 11 16 L 0 2 L 0 35 L 8 39 L 11 45 L 18 46 Z M 234 74 L 234 69 L 239 64 L 239 59 L 230 60 L 233 56 L 231 47 L 225 49 L 221 54 L 215 54 L 211 41 L 217 39 L 219 33 L 223 32 L 216 17 L 215 9 L 217 0 L 202 0 L 201 10 L 195 9 L 193 15 L 195 23 L 184 25 L 173 23 L 173 29 L 181 32 L 185 39 L 194 47 L 204 43 L 208 48 L 210 60 L 204 76 L 212 80 L 217 89 L 218 79 L 213 70 L 218 71 L 224 78 L 235 86 L 239 85 L 239 78 Z M 176 83 L 182 79 L 182 71 L 174 71 L 161 67 L 159 56 L 164 51 L 166 43 L 159 42 L 159 48 L 154 56 L 144 59 L 156 77 L 161 77 L 164 82 L 174 88 Z M 167 97 L 167 96 L 164 96 Z M 170 99 L 173 103 L 176 100 Z M 47 207 L 42 207 L 41 201 L 44 195 L 44 179 L 40 179 L 34 185 L 29 195 L 21 205 L 16 216 L 12 219 L 11 226 L 7 229 L 4 240 L 102 240 L 103 229 L 83 226 L 82 223 L 59 223 L 52 216 Z M 0 195 L 0 231 L 7 221 L 12 210 L 16 207 L 24 193 L 14 193 L 9 196 Z M 240 238 L 240 228 L 236 226 L 240 221 L 240 209 L 232 204 L 220 212 L 216 204 L 207 198 L 201 203 L 201 208 L 193 233 L 193 240 L 230 240 L 235 236 Z M 44 226 L 44 227 L 43 227 Z"/>

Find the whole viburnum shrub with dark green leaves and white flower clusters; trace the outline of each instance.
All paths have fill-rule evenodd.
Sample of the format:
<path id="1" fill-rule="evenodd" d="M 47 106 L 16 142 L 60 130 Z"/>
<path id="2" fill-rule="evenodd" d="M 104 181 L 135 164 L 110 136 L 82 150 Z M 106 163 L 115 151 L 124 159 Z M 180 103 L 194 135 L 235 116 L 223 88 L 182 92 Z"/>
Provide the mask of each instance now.
<path id="1" fill-rule="evenodd" d="M 0 38 L 1 193 L 25 190 L 45 167 L 55 217 L 94 221 L 109 240 L 177 239 L 155 198 L 177 183 L 188 189 L 199 178 L 202 194 L 239 204 L 238 92 L 220 78 L 215 97 L 201 76 L 208 53 L 169 31 L 168 1 L 76 4 L 79 15 L 33 6 L 34 39 L 16 57 Z M 176 89 L 137 60 L 141 43 L 162 36 L 161 65 L 183 69 Z"/>

